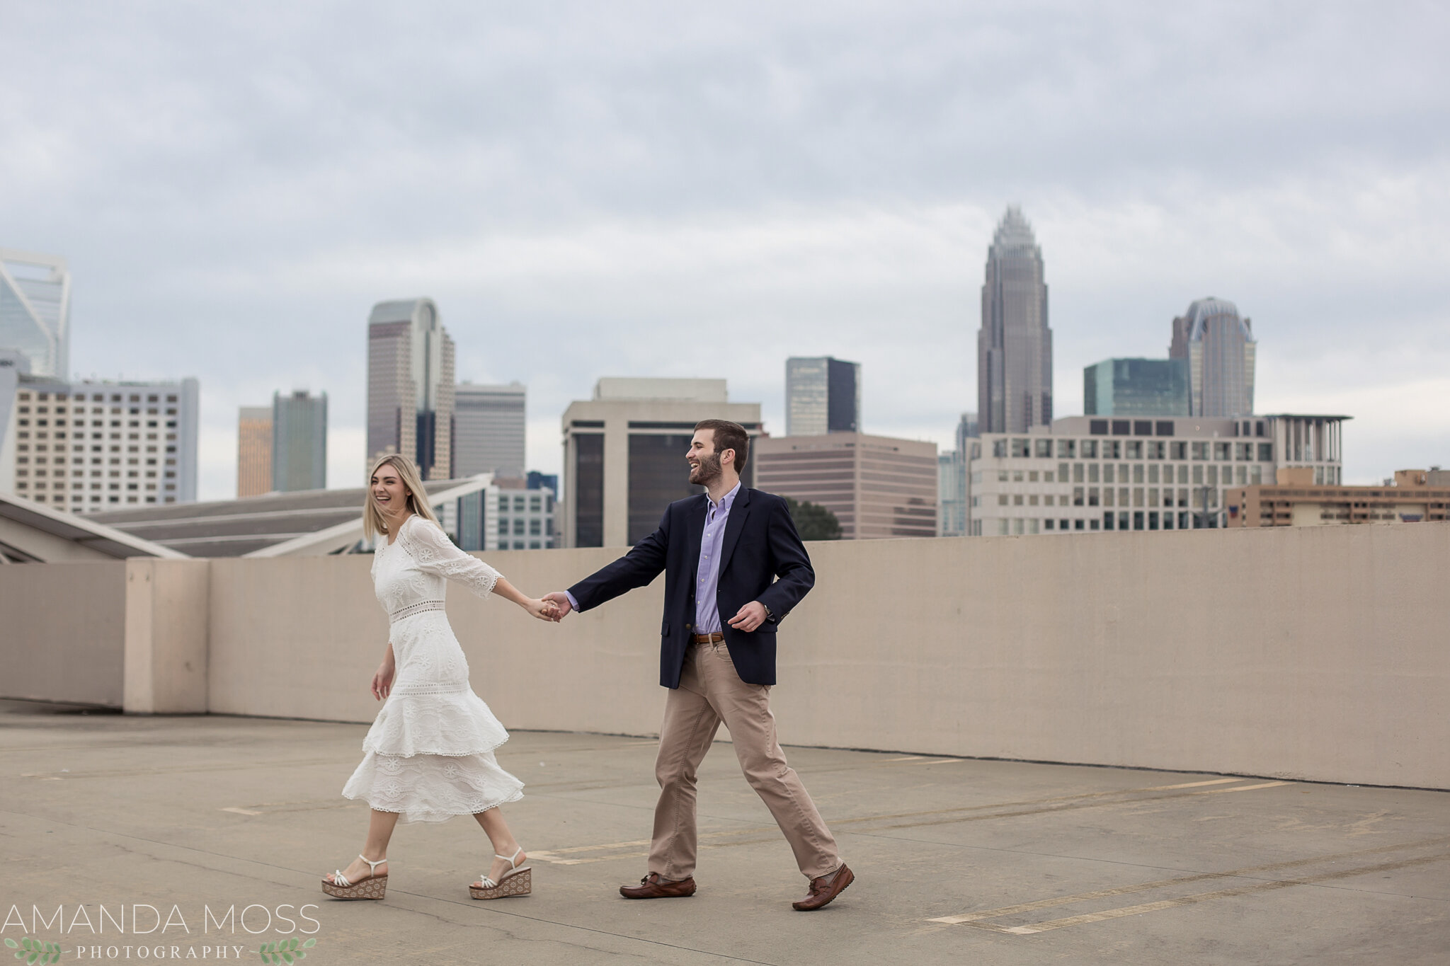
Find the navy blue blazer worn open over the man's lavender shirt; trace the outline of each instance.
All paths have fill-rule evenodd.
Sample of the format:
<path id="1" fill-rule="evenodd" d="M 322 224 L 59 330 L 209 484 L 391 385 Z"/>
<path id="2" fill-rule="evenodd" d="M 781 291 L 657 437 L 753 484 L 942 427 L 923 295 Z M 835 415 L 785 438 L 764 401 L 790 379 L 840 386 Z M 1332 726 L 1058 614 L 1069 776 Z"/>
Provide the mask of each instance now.
<path id="1" fill-rule="evenodd" d="M 695 633 L 695 582 L 709 497 L 703 492 L 671 503 L 660 527 L 629 553 L 568 588 L 587 611 L 664 571 L 664 623 L 660 626 L 660 684 L 680 686 L 684 652 Z M 815 571 L 786 501 L 760 490 L 740 488 L 725 523 L 721 578 L 715 604 L 735 673 L 747 684 L 776 684 L 776 627 L 811 592 Z M 751 601 L 770 610 L 770 620 L 751 633 L 729 618 Z"/>

